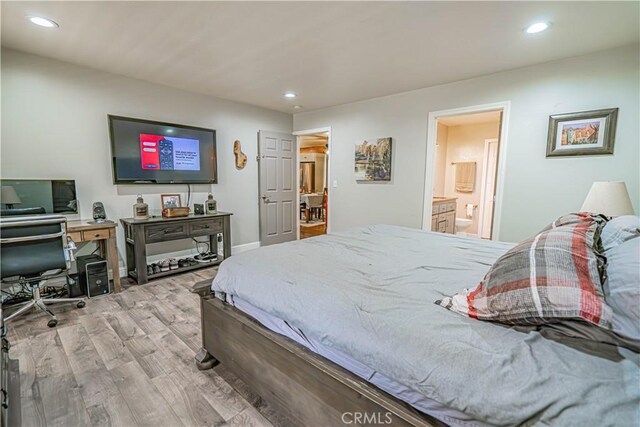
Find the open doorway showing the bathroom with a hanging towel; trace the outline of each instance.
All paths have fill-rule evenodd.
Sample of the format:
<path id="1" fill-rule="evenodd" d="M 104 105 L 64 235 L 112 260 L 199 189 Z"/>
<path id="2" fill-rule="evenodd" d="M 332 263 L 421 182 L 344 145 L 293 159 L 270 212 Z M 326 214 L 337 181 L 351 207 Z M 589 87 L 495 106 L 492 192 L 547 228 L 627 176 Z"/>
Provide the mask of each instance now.
<path id="1" fill-rule="evenodd" d="M 498 239 L 507 109 L 502 103 L 429 115 L 423 229 Z"/>

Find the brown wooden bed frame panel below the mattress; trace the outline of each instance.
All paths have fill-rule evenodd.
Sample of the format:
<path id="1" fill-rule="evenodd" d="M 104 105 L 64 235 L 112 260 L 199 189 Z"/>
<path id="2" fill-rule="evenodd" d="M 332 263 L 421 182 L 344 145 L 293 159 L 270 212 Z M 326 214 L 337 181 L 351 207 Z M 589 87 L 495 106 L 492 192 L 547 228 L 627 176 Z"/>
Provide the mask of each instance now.
<path id="1" fill-rule="evenodd" d="M 201 297 L 198 368 L 223 363 L 296 425 L 444 425 L 215 298 L 211 280 L 192 292 Z"/>

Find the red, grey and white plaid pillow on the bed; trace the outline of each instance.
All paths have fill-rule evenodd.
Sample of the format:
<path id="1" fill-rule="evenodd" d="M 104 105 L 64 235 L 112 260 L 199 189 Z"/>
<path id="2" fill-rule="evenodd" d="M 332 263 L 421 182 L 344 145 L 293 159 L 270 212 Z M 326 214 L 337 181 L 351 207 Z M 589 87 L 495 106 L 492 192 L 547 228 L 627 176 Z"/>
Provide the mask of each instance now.
<path id="1" fill-rule="evenodd" d="M 610 329 L 600 255 L 606 221 L 590 213 L 562 216 L 501 256 L 475 289 L 436 304 L 480 320 L 540 325 L 583 319 Z"/>

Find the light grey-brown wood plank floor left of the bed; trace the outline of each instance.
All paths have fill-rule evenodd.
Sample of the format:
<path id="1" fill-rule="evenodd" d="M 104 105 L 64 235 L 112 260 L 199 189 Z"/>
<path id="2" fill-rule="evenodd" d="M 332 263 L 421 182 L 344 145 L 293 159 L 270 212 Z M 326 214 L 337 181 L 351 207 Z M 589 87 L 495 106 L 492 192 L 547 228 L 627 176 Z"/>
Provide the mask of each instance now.
<path id="1" fill-rule="evenodd" d="M 53 329 L 35 311 L 10 322 L 23 425 L 293 425 L 223 365 L 195 367 L 200 306 L 188 288 L 211 275 L 131 285 L 83 309 L 54 305 Z"/>

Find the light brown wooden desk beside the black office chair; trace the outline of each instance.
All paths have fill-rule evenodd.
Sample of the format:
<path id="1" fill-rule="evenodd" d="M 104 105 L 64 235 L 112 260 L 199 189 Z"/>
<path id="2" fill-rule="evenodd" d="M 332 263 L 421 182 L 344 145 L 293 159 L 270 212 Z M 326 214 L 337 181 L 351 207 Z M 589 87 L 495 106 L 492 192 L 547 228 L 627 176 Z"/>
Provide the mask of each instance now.
<path id="1" fill-rule="evenodd" d="M 90 220 L 67 221 L 67 235 L 76 243 L 94 241 L 100 246 L 113 276 L 113 291 L 120 292 L 120 266 L 116 246 L 115 222 L 94 223 Z"/>

